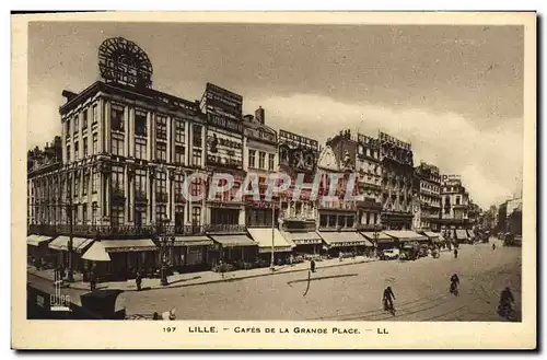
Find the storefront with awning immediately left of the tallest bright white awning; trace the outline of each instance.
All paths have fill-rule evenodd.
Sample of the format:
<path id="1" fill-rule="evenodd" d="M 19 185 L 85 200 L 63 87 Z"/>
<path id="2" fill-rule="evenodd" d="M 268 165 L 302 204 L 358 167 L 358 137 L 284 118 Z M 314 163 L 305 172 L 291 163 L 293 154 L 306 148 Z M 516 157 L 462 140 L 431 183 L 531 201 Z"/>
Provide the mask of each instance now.
<path id="1" fill-rule="evenodd" d="M 258 243 L 245 234 L 211 235 L 217 245 L 218 254 L 212 259 L 213 265 L 219 260 L 225 264 L 254 263 L 258 254 Z"/>

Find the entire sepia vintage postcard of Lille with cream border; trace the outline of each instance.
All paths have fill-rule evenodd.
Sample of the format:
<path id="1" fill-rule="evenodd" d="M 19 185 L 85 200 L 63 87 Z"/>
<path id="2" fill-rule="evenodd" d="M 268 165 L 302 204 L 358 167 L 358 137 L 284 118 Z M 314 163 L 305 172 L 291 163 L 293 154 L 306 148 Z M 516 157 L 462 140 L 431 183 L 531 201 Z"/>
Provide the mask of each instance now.
<path id="1" fill-rule="evenodd" d="M 536 347 L 534 12 L 12 39 L 13 348 Z"/>

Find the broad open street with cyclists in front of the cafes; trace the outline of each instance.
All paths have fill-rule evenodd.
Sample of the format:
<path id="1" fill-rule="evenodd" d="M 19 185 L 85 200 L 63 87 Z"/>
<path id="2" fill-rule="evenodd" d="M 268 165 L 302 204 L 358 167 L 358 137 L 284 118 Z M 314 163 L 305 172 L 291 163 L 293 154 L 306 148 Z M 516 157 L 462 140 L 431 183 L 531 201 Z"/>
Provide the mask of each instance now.
<path id="1" fill-rule="evenodd" d="M 128 316 L 176 307 L 177 320 L 501 321 L 499 294 L 509 286 L 521 301 L 521 248 L 462 245 L 458 258 L 375 262 L 210 284 L 126 292 Z M 452 274 L 459 297 L 449 293 Z M 395 292 L 396 314 L 381 306 L 383 289 Z M 304 295 L 305 293 L 305 295 Z M 520 311 L 517 311 L 520 314 Z M 519 315 L 520 316 L 520 315 Z"/>

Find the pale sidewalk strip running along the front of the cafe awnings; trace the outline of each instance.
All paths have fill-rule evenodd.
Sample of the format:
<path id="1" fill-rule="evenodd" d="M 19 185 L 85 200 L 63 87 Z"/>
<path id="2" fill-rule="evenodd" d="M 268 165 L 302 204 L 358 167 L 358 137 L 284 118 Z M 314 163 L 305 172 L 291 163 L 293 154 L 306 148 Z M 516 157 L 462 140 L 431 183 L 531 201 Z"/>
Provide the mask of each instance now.
<path id="1" fill-rule="evenodd" d="M 348 266 L 348 265 L 357 265 L 357 264 L 365 264 L 373 263 L 376 259 L 358 256 L 354 259 L 345 258 L 344 260 L 339 260 L 338 258 L 317 262 L 316 270 L 339 267 L 339 266 Z M 160 279 L 142 279 L 141 291 L 147 290 L 155 290 L 155 289 L 165 289 L 165 288 L 183 288 L 190 286 L 199 286 L 207 283 L 216 283 L 216 282 L 224 282 L 224 281 L 237 281 L 243 279 L 257 278 L 263 276 L 274 276 L 280 274 L 289 274 L 289 272 L 298 272 L 298 271 L 307 271 L 310 269 L 310 263 L 304 262 L 295 265 L 283 265 L 276 266 L 275 271 L 272 272 L 269 268 L 259 268 L 259 269 L 251 269 L 251 270 L 236 270 L 231 272 L 225 272 L 224 276 L 220 272 L 213 271 L 201 271 L 201 272 L 191 272 L 191 274 L 178 274 L 173 275 L 167 278 L 168 284 L 162 286 Z M 47 280 L 54 280 L 54 271 L 53 270 L 36 270 L 32 267 L 27 267 L 27 271 L 38 276 L 40 278 Z M 71 289 L 78 290 L 90 290 L 90 283 L 83 282 L 81 280 L 81 275 L 77 276 L 74 274 L 74 282 L 70 284 Z M 118 289 L 124 291 L 138 291 L 135 279 L 127 281 L 110 281 L 110 282 L 101 282 L 97 283 L 97 289 Z"/>

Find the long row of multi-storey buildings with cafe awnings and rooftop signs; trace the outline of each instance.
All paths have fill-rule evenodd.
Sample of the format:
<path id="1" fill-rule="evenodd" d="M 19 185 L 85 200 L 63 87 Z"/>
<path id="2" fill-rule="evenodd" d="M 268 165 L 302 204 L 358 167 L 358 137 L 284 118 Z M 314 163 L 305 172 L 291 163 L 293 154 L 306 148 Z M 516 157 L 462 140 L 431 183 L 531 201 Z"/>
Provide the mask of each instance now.
<path id="1" fill-rule="evenodd" d="M 461 176 L 415 164 L 396 136 L 344 129 L 319 144 L 290 121 L 272 129 L 265 108 L 245 115 L 241 95 L 211 83 L 196 101 L 160 92 L 125 38 L 101 45 L 98 70 L 86 89 L 59 90 L 62 132 L 28 151 L 36 266 L 124 278 L 465 242 L 485 227 Z"/>

